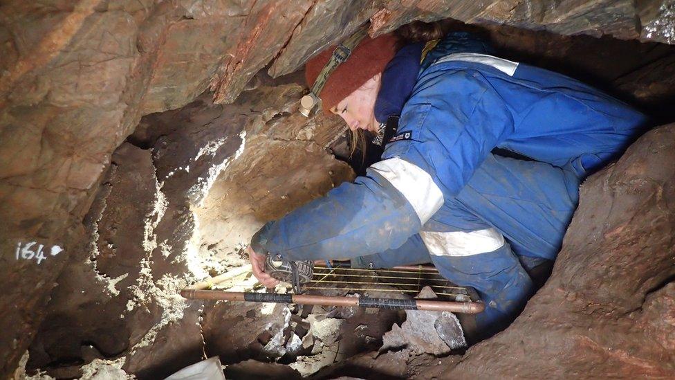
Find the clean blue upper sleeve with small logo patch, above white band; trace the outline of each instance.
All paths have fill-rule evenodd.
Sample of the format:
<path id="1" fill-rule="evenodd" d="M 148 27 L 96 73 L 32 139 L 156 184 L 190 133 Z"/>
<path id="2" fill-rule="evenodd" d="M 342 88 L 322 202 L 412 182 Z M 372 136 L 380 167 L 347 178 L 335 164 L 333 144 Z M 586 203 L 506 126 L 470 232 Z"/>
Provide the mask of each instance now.
<path id="1" fill-rule="evenodd" d="M 398 134 L 383 158 L 398 156 L 454 197 L 497 144 L 514 130 L 512 113 L 483 75 L 472 69 L 423 75 L 406 102 Z"/>

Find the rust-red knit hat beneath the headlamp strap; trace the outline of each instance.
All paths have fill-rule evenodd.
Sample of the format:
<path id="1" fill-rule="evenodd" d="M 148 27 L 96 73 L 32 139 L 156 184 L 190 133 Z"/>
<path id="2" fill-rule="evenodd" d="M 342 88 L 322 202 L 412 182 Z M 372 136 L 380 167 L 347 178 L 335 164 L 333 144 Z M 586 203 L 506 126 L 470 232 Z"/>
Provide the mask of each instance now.
<path id="1" fill-rule="evenodd" d="M 346 98 L 377 73 L 384 71 L 385 66 L 396 54 L 396 42 L 397 39 L 393 33 L 376 38 L 366 36 L 362 39 L 349 58 L 329 75 L 324 88 L 318 94 L 324 112 L 330 113 L 330 109 L 338 105 L 340 100 Z M 307 61 L 305 78 L 308 87 L 312 87 L 319 73 L 331 59 L 334 50 L 335 46 L 326 48 L 319 55 Z"/>

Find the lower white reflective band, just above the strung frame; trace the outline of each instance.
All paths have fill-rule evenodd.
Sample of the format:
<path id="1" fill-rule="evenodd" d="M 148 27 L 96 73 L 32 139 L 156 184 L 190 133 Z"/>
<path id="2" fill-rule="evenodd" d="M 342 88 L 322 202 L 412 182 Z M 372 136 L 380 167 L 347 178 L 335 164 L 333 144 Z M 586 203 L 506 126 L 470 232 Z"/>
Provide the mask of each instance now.
<path id="1" fill-rule="evenodd" d="M 429 232 L 420 236 L 429 253 L 435 256 L 471 256 L 488 253 L 505 244 L 504 237 L 494 228 L 471 232 Z"/>

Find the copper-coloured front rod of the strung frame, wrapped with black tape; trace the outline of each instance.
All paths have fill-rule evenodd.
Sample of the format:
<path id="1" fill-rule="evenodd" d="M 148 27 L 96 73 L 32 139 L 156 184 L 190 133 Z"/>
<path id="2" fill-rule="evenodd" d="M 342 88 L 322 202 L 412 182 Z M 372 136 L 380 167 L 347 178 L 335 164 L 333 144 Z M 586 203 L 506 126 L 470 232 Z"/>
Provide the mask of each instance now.
<path id="1" fill-rule="evenodd" d="M 322 305 L 342 307 L 378 307 L 382 309 L 417 309 L 451 311 L 453 313 L 477 314 L 485 309 L 482 302 L 450 302 L 436 300 L 397 300 L 394 298 L 313 296 L 309 294 L 243 293 L 239 291 L 216 291 L 183 289 L 181 296 L 198 300 L 230 300 L 249 302 L 295 303 L 298 305 Z"/>

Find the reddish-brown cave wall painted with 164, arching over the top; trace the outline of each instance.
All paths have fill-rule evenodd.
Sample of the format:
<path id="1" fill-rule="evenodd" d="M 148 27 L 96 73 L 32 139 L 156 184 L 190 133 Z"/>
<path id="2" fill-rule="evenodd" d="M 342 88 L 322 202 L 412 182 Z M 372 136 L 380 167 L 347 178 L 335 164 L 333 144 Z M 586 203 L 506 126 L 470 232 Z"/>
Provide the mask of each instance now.
<path id="1" fill-rule="evenodd" d="M 264 66 L 271 63 L 273 76 L 295 71 L 368 19 L 373 35 L 412 19 L 452 17 L 672 44 L 673 7 L 629 0 L 3 2 L 0 285 L 12 290 L 0 303 L 0 375 L 26 350 L 66 262 L 85 249 L 82 221 L 115 167 L 113 152 L 142 116 L 182 107 L 207 88 L 216 102 L 232 102 Z M 39 246 L 48 254 L 35 260 Z"/>

